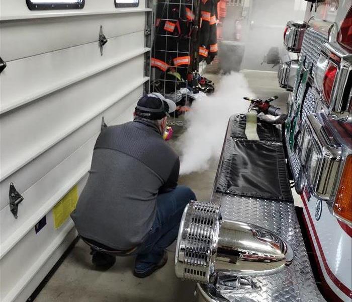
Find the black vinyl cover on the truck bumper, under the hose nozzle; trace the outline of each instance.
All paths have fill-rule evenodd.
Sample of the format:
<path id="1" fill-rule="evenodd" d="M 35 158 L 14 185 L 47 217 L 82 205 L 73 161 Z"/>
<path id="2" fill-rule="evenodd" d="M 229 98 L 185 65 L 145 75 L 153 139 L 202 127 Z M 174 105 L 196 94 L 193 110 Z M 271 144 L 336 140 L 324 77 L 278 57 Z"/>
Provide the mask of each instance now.
<path id="1" fill-rule="evenodd" d="M 225 139 L 216 190 L 227 194 L 293 202 L 280 128 L 261 123 L 258 136 L 267 139 L 248 140 L 243 138 L 241 121 L 243 119 L 233 120 L 231 136 L 237 137 Z"/>

